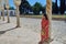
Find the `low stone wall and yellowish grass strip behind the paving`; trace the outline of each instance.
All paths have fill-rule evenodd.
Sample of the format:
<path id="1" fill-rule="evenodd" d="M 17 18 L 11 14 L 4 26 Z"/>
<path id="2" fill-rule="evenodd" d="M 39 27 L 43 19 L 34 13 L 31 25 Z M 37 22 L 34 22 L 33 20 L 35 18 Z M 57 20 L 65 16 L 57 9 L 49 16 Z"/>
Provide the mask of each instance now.
<path id="1" fill-rule="evenodd" d="M 66 20 L 66 15 L 53 15 L 53 20 Z M 42 15 L 21 15 L 21 18 L 33 18 L 33 19 L 42 19 Z"/>

